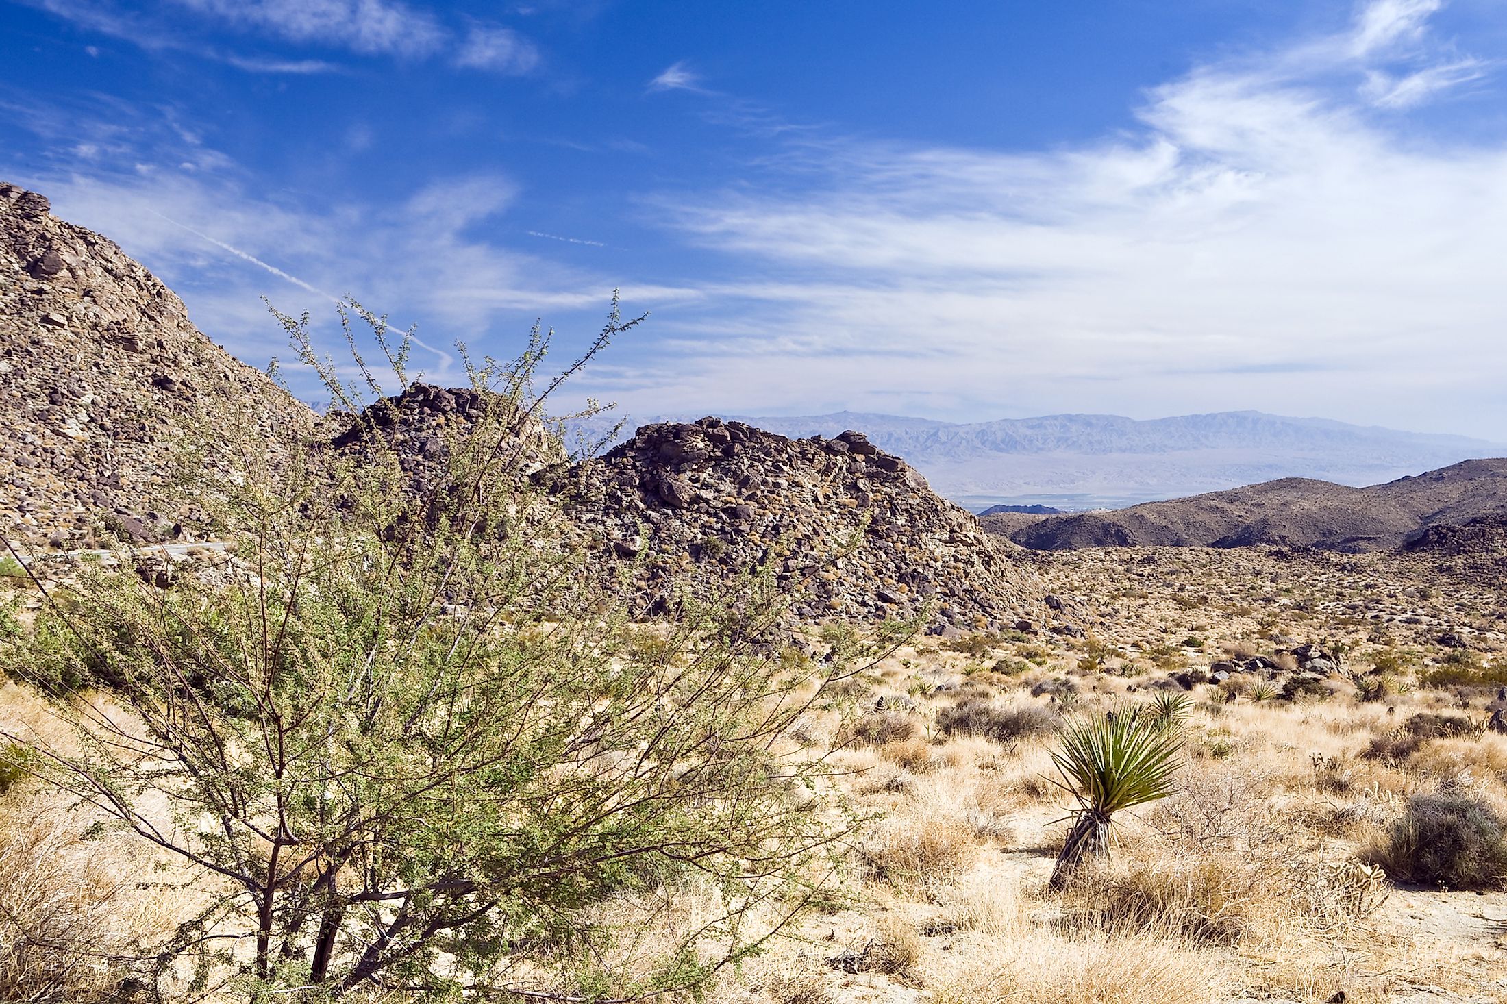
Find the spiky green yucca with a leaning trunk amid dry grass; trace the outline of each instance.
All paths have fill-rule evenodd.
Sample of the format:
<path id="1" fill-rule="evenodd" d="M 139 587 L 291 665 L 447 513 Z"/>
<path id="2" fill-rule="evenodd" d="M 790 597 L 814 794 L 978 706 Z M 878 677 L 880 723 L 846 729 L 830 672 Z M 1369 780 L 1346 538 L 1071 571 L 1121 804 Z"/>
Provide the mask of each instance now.
<path id="1" fill-rule="evenodd" d="M 1059 788 L 1078 799 L 1078 819 L 1052 868 L 1061 888 L 1078 864 L 1105 852 L 1115 813 L 1166 797 L 1175 790 L 1181 731 L 1148 715 L 1109 712 L 1070 722 L 1052 751 Z"/>

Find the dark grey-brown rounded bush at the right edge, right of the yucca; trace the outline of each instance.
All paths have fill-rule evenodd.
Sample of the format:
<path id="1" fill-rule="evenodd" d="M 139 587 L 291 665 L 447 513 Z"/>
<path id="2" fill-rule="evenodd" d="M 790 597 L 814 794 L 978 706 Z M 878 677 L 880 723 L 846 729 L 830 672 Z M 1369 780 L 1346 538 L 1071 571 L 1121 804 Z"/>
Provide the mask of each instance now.
<path id="1" fill-rule="evenodd" d="M 1486 802 L 1457 793 L 1409 797 L 1370 858 L 1398 882 L 1499 889 L 1507 879 L 1501 819 Z"/>

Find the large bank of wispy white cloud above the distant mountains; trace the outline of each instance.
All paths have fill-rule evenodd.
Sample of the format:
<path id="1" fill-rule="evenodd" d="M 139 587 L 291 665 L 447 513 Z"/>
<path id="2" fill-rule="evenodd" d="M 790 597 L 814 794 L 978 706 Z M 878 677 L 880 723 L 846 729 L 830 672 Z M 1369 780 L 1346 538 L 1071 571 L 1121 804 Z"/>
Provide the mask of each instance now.
<path id="1" fill-rule="evenodd" d="M 1430 38 L 1436 6 L 1383 0 L 1344 35 L 1200 66 L 1097 143 L 808 134 L 775 184 L 657 200 L 757 279 L 659 311 L 677 344 L 606 392 L 662 410 L 1264 407 L 1424 428 L 1466 424 L 1469 399 L 1477 431 L 1502 434 L 1507 139 L 1444 143 L 1376 107 L 1483 80 Z M 1398 62 L 1426 75 L 1359 92 Z"/>

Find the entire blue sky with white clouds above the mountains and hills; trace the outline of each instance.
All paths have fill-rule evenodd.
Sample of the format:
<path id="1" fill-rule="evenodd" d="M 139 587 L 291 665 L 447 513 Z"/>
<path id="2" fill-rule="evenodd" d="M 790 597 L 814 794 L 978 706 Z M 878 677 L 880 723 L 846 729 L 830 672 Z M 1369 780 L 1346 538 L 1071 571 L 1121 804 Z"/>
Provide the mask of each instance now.
<path id="1" fill-rule="evenodd" d="M 0 178 L 633 415 L 1260 409 L 1507 440 L 1502 0 L 0 0 Z M 333 342 L 332 342 L 333 348 Z"/>

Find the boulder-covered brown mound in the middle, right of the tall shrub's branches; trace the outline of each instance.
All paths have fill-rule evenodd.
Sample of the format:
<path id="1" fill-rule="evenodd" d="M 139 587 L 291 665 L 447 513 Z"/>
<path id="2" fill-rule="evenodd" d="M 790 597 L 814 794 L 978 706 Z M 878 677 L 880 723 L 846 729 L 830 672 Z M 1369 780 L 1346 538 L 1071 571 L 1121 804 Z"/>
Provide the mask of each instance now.
<path id="1" fill-rule="evenodd" d="M 856 431 L 793 440 L 707 418 L 647 425 L 577 467 L 568 511 L 636 588 L 772 567 L 800 618 L 910 617 L 1001 627 L 1034 603 L 1010 544 Z"/>

